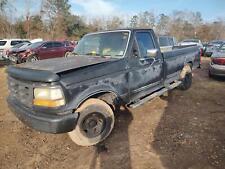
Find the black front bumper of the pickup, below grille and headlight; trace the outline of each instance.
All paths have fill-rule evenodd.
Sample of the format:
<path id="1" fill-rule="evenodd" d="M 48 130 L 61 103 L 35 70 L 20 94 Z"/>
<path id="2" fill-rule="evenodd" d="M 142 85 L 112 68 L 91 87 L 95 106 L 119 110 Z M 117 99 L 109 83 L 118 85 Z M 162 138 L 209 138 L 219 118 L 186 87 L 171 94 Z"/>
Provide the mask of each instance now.
<path id="1" fill-rule="evenodd" d="M 23 107 L 13 98 L 8 98 L 9 108 L 19 120 L 27 126 L 46 133 L 67 133 L 72 131 L 77 123 L 79 114 L 70 113 L 64 115 L 33 112 Z"/>

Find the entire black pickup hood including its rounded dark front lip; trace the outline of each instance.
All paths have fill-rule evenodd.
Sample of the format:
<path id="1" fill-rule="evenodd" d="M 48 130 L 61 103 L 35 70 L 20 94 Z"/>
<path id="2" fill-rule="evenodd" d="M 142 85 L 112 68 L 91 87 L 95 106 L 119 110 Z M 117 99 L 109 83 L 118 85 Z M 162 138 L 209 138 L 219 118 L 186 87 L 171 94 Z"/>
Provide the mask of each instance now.
<path id="1" fill-rule="evenodd" d="M 60 80 L 59 73 L 115 60 L 118 59 L 91 56 L 46 59 L 33 63 L 9 66 L 7 73 L 11 77 L 26 81 L 56 82 Z"/>

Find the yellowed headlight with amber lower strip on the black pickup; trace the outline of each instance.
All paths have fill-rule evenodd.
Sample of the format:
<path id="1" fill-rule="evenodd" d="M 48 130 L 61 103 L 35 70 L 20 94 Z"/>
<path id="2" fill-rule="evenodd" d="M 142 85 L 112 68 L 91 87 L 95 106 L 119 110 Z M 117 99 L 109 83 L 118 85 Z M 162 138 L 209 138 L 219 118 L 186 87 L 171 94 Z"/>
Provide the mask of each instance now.
<path id="1" fill-rule="evenodd" d="M 62 89 L 60 87 L 34 88 L 33 104 L 35 106 L 44 107 L 59 107 L 65 105 L 65 98 Z"/>

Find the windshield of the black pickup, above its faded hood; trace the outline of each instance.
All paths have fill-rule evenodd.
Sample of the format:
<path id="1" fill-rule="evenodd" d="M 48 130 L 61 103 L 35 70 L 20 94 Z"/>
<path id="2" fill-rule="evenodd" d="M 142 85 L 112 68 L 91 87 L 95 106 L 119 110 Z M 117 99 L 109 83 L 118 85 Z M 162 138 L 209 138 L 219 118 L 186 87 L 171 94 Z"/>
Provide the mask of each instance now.
<path id="1" fill-rule="evenodd" d="M 104 32 L 84 36 L 74 50 L 75 55 L 121 58 L 128 43 L 129 32 Z"/>

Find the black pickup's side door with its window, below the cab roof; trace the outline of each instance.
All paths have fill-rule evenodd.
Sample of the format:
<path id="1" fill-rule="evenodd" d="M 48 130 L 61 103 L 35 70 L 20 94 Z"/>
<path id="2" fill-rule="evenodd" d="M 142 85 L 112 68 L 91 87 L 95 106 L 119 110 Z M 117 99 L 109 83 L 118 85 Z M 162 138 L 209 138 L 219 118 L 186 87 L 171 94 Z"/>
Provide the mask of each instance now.
<path id="1" fill-rule="evenodd" d="M 163 58 L 160 51 L 155 57 L 148 51 L 158 50 L 150 31 L 135 33 L 133 54 L 130 58 L 130 96 L 131 100 L 148 95 L 163 84 Z"/>

